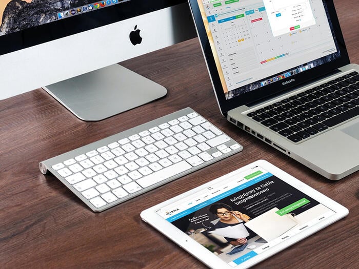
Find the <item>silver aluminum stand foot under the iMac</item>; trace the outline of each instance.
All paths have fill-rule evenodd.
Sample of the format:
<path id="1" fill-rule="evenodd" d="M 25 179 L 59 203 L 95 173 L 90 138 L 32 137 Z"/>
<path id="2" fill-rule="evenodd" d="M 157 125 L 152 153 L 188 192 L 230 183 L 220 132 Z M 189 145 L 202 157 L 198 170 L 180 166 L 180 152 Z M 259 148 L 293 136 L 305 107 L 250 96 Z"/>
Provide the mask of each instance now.
<path id="1" fill-rule="evenodd" d="M 165 87 L 117 64 L 43 88 L 86 121 L 102 120 L 167 94 Z"/>

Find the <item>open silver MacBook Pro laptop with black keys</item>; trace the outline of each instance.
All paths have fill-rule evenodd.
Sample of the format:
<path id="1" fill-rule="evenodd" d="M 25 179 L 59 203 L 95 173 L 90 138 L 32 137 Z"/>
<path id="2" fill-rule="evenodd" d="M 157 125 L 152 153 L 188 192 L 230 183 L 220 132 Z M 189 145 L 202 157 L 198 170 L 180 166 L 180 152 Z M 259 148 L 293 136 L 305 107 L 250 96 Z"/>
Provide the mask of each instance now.
<path id="1" fill-rule="evenodd" d="M 332 179 L 359 168 L 359 66 L 332 0 L 189 0 L 222 115 Z"/>

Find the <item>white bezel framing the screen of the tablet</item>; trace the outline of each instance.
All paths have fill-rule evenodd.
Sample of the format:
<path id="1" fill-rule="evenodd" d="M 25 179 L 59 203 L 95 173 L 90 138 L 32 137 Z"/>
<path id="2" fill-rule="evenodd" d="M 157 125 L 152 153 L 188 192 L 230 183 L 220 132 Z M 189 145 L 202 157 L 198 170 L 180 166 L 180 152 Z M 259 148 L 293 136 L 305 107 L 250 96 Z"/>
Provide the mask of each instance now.
<path id="1" fill-rule="evenodd" d="M 277 245 L 271 247 L 267 251 L 258 254 L 251 259 L 248 259 L 247 261 L 238 264 L 235 267 L 230 266 L 228 263 L 224 262 L 221 258 L 218 258 L 215 256 L 212 252 L 207 250 L 204 246 L 202 246 L 200 243 L 196 242 L 194 239 L 190 238 L 187 234 L 182 232 L 181 230 L 177 229 L 176 226 L 174 226 L 172 223 L 168 222 L 163 217 L 159 216 L 156 213 L 156 210 L 164 208 L 167 205 L 170 205 L 178 200 L 184 199 L 187 196 L 191 196 L 195 194 L 198 191 L 204 190 L 209 185 L 213 185 L 217 182 L 220 182 L 222 180 L 225 180 L 228 177 L 231 177 L 237 173 L 240 173 L 242 171 L 251 169 L 255 167 L 256 165 L 262 167 L 266 171 L 270 172 L 272 175 L 280 178 L 284 182 L 292 185 L 294 188 L 298 189 L 299 191 L 303 192 L 304 194 L 312 197 L 316 201 L 322 203 L 323 205 L 327 206 L 331 210 L 335 212 L 332 216 L 328 217 L 327 219 L 322 220 L 321 222 L 318 222 L 314 224 L 313 226 L 308 227 L 306 230 L 303 230 L 301 233 L 288 238 L 287 240 L 278 243 Z M 236 268 L 236 269 L 242 269 L 242 268 L 248 268 L 250 266 L 253 266 L 254 264 L 257 264 L 270 256 L 286 249 L 288 246 L 308 237 L 311 234 L 316 233 L 317 231 L 320 231 L 324 229 L 324 227 L 334 223 L 335 221 L 344 218 L 346 215 L 348 215 L 349 211 L 346 209 L 343 205 L 333 201 L 329 197 L 325 196 L 324 194 L 314 190 L 313 188 L 309 187 L 309 185 L 303 183 L 302 181 L 294 178 L 293 176 L 289 175 L 288 173 L 284 172 L 283 170 L 275 167 L 273 164 L 269 163 L 265 160 L 257 160 L 255 162 L 252 162 L 245 167 L 242 167 L 240 169 L 237 169 L 231 173 L 228 173 L 224 176 L 218 177 L 212 181 L 209 181 L 197 188 L 194 188 L 188 192 L 185 192 L 181 195 L 178 195 L 176 197 L 173 197 L 167 201 L 164 201 L 162 203 L 159 203 L 157 205 L 152 206 L 149 209 L 144 210 L 141 212 L 141 218 L 153 226 L 156 230 L 164 234 L 166 237 L 171 239 L 174 243 L 182 247 L 184 250 L 186 250 L 189 254 L 196 257 L 198 260 L 203 262 L 209 267 L 212 268 Z"/>

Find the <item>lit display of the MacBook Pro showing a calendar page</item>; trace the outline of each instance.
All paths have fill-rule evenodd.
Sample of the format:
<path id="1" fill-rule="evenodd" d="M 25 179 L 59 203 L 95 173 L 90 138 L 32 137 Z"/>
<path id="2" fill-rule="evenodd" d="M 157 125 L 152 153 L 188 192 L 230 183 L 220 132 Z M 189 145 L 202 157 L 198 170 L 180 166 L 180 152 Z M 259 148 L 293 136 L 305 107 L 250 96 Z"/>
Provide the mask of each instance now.
<path id="1" fill-rule="evenodd" d="M 286 89 L 296 77 L 343 56 L 327 1 L 196 2 L 196 24 L 201 16 L 213 57 L 209 68 L 216 69 L 225 100 L 273 85 Z"/>

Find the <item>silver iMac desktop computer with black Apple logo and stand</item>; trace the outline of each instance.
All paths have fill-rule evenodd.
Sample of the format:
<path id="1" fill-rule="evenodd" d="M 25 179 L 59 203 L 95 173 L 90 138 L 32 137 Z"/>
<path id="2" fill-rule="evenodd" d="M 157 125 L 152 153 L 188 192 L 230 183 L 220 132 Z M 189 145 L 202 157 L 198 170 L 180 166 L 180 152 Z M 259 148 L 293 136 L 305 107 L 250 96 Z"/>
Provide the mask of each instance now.
<path id="1" fill-rule="evenodd" d="M 0 23 L 0 99 L 43 87 L 87 121 L 165 96 L 117 63 L 196 36 L 186 0 L 0 0 Z"/>

